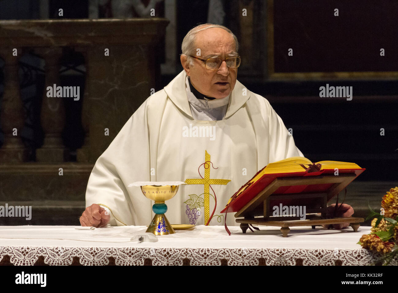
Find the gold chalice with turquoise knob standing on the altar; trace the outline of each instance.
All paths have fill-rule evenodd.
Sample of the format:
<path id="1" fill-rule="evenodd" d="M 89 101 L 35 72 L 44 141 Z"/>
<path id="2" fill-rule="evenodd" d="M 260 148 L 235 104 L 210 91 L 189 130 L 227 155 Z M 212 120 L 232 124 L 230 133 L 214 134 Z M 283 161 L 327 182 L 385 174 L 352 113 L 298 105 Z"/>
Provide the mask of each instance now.
<path id="1" fill-rule="evenodd" d="M 149 182 L 148 182 L 149 183 Z M 153 182 L 156 183 L 156 182 Z M 176 182 L 179 183 L 179 182 Z M 183 183 L 183 182 L 181 182 Z M 184 183 L 185 184 L 185 183 Z M 177 194 L 179 185 L 142 185 L 141 191 L 148 199 L 155 201 L 152 210 L 155 216 L 149 224 L 146 232 L 155 235 L 168 235 L 176 233 L 164 215 L 167 211 L 167 205 L 164 203 Z"/>

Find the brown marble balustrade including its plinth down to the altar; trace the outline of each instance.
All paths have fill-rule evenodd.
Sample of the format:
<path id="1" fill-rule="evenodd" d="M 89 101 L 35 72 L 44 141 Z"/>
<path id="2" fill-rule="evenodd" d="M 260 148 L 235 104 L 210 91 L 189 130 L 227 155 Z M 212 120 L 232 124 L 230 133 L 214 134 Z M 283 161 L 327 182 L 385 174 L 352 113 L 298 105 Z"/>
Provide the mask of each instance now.
<path id="1" fill-rule="evenodd" d="M 0 147 L 0 205 L 32 206 L 31 221 L 1 218 L 0 225 L 79 224 L 95 161 L 150 95 L 151 88 L 159 88 L 156 46 L 167 24 L 163 18 L 0 21 L 0 57 L 5 62 L 0 112 L 4 132 Z M 86 66 L 84 94 L 80 91 L 85 138 L 77 149 L 77 162 L 68 161 L 69 152 L 61 135 L 66 121 L 63 102 L 68 98 L 47 96 L 47 87 L 58 86 L 64 49 L 82 53 Z M 25 113 L 18 62 L 27 50 L 45 62 L 45 85 L 37 119 L 45 137 L 43 145 L 35 150 L 34 162 L 27 161 L 28 150 L 20 135 Z M 109 55 L 105 54 L 108 50 Z M 80 110 L 76 113 L 80 114 Z"/>

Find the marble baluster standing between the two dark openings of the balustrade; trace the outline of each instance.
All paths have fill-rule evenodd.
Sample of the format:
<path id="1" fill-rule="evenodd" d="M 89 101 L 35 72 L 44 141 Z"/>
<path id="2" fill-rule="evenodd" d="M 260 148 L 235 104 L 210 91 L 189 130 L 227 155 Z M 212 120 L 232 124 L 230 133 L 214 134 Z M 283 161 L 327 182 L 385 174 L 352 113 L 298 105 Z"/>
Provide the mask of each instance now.
<path id="1" fill-rule="evenodd" d="M 60 47 L 42 47 L 35 49 L 45 60 L 45 90 L 41 103 L 41 126 L 45 133 L 43 146 L 36 149 L 38 162 L 63 162 L 68 159 L 61 132 L 65 125 L 65 108 L 61 97 L 48 97 L 47 87 L 59 86 Z"/>

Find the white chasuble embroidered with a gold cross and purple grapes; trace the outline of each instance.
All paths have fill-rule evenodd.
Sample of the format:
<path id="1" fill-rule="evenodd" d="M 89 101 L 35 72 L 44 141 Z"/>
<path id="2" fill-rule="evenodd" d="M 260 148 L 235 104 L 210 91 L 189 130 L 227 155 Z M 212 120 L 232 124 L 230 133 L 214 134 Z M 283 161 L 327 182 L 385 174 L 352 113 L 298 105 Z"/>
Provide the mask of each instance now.
<path id="1" fill-rule="evenodd" d="M 149 199 L 135 181 L 184 181 L 168 201 L 170 224 L 223 225 L 220 210 L 265 165 L 303 156 L 269 102 L 236 81 L 224 119 L 195 120 L 185 71 L 150 96 L 98 158 L 86 191 L 111 225 L 148 225 Z M 228 226 L 238 225 L 229 214 Z"/>

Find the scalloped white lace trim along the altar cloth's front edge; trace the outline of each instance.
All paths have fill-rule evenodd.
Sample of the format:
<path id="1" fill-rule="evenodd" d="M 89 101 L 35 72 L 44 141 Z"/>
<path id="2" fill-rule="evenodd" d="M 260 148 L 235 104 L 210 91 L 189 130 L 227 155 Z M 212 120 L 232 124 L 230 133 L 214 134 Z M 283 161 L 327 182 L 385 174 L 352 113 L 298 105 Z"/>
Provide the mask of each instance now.
<path id="1" fill-rule="evenodd" d="M 264 259 L 265 265 L 296 265 L 301 259 L 302 265 L 373 265 L 382 258 L 381 254 L 359 248 L 345 249 L 301 249 L 301 248 L 109 248 L 109 247 L 35 247 L 2 246 L 0 261 L 10 257 L 11 264 L 33 265 L 40 256 L 45 264 L 71 265 L 78 257 L 82 265 L 107 265 L 109 258 L 116 265 L 144 265 L 146 259 L 152 265 L 182 265 L 185 259 L 190 265 L 259 265 Z M 392 260 L 390 265 L 398 265 Z"/>

